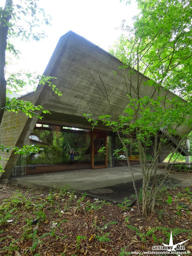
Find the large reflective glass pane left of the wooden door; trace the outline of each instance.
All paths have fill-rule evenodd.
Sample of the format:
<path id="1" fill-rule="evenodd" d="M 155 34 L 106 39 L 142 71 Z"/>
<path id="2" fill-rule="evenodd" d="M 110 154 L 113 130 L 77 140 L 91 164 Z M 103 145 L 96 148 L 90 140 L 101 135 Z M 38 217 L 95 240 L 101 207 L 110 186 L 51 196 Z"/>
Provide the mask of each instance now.
<path id="1" fill-rule="evenodd" d="M 37 145 L 40 151 L 26 156 L 26 175 L 91 168 L 89 130 L 56 125 L 36 126 L 28 144 Z M 20 163 L 17 163 L 17 173 L 22 167 Z M 17 173 L 13 175 L 18 176 Z"/>

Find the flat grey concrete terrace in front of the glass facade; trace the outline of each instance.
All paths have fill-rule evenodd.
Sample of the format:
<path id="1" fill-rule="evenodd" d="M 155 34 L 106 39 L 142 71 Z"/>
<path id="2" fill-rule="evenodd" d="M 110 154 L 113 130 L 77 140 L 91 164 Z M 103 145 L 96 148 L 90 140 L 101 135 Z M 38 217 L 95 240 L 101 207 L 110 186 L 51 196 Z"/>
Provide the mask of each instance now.
<path id="1" fill-rule="evenodd" d="M 136 186 L 142 186 L 142 174 L 140 166 L 132 166 Z M 65 187 L 68 191 L 75 191 L 78 194 L 87 192 L 89 196 L 103 200 L 122 203 L 127 197 L 130 203 L 135 201 L 134 188 L 132 185 L 131 174 L 124 166 L 81 170 L 72 172 L 49 173 L 44 175 L 34 175 L 20 178 L 10 178 L 12 183 L 20 184 L 30 188 L 61 188 Z M 158 171 L 161 174 L 162 171 Z M 192 175 L 190 174 L 171 174 L 165 181 L 166 186 L 179 185 L 190 187 L 192 185 Z"/>

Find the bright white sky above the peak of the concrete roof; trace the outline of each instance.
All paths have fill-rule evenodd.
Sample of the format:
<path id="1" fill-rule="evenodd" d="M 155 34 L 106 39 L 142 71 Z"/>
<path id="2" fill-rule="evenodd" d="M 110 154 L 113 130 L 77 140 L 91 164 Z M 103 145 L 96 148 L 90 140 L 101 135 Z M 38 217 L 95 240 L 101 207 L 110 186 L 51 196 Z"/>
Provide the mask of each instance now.
<path id="1" fill-rule="evenodd" d="M 4 6 L 4 2 L 0 0 L 0 6 Z M 28 43 L 15 40 L 14 44 L 22 56 L 8 67 L 9 70 L 43 74 L 60 36 L 68 30 L 108 51 L 109 45 L 122 33 L 115 30 L 121 20 L 125 19 L 131 25 L 131 18 L 138 13 L 135 0 L 127 6 L 120 0 L 40 0 L 39 6 L 52 16 L 52 26 L 42 28 L 47 38 Z"/>

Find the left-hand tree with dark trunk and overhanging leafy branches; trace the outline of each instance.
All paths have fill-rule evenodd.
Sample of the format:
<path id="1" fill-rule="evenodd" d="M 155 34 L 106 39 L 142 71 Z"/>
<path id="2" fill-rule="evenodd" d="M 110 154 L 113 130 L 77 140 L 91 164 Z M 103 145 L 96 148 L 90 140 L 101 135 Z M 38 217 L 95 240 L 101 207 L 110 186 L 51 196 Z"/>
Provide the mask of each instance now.
<path id="1" fill-rule="evenodd" d="M 0 124 L 5 110 L 16 113 L 22 111 L 29 117 L 36 115 L 39 118 L 42 118 L 42 116 L 37 113 L 38 110 L 41 110 L 43 113 L 50 113 L 42 106 L 34 106 L 30 101 L 24 102 L 16 98 L 9 99 L 6 97 L 6 91 L 17 92 L 19 88 L 27 84 L 26 79 L 23 79 L 20 73 L 11 74 L 7 80 L 5 79 L 6 51 L 11 52 L 16 57 L 20 53 L 15 49 L 12 40 L 20 37 L 27 41 L 30 38 L 39 41 L 45 37 L 44 32 L 41 30 L 41 25 L 50 24 L 50 17 L 45 16 L 44 10 L 38 7 L 37 1 L 21 0 L 20 4 L 15 4 L 13 0 L 6 0 L 4 8 L 0 7 Z M 25 76 L 28 78 L 29 84 L 36 84 L 37 81 L 37 84 L 47 84 L 52 87 L 56 94 L 61 95 L 59 89 L 52 84 L 54 77 L 46 77 L 44 75 L 34 77 L 31 73 L 26 73 Z M 0 148 L 2 151 L 12 149 L 15 150 L 15 153 L 29 153 L 30 149 L 33 152 L 38 150 L 36 147 L 27 147 L 26 150 L 26 147 L 5 147 L 4 145 L 1 145 Z"/>

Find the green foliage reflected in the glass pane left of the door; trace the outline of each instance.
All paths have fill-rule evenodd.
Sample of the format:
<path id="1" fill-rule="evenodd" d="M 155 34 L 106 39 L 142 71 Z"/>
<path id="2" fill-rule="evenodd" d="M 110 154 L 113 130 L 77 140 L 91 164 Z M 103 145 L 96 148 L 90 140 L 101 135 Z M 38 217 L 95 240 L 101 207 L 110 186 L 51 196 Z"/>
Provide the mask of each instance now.
<path id="1" fill-rule="evenodd" d="M 75 161 L 89 161 L 86 153 L 90 146 L 90 138 L 84 133 L 55 132 L 34 129 L 36 135 L 44 144 L 39 147 L 39 154 L 31 154 L 26 158 L 26 164 L 63 164 L 70 162 L 70 147 L 75 150 Z M 34 142 L 35 143 L 35 142 Z"/>

